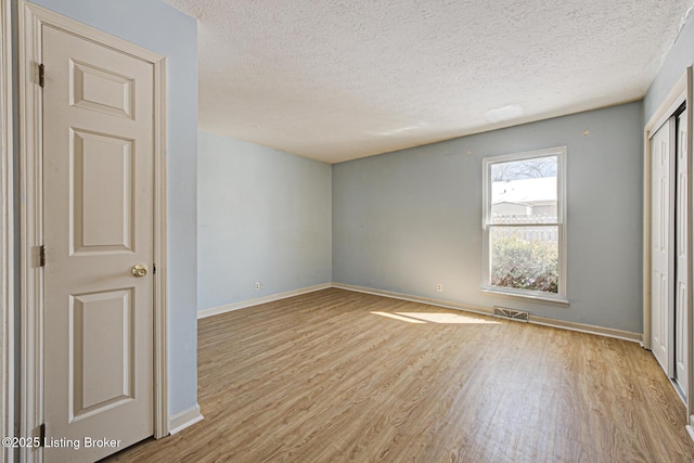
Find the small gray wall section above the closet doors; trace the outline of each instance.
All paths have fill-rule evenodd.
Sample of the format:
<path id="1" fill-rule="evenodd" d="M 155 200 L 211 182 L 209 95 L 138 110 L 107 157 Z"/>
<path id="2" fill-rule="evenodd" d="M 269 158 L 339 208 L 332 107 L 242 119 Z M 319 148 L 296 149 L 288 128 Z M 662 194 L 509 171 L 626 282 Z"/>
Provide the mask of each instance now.
<path id="1" fill-rule="evenodd" d="M 660 70 L 644 98 L 644 120 L 648 121 L 674 83 L 682 77 L 687 66 L 694 63 L 694 14 L 686 23 L 663 62 Z"/>

